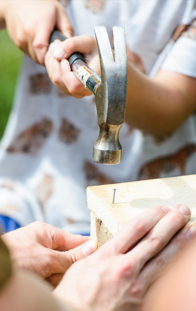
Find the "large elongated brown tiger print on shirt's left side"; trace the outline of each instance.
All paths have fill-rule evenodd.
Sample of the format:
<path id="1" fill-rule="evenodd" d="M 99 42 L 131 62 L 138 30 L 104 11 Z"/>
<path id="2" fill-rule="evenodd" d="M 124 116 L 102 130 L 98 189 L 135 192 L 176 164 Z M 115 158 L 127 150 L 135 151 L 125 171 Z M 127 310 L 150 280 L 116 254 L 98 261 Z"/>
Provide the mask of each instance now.
<path id="1" fill-rule="evenodd" d="M 21 132 L 7 148 L 7 152 L 22 152 L 35 154 L 49 137 L 53 128 L 52 121 L 42 119 L 30 128 Z"/>

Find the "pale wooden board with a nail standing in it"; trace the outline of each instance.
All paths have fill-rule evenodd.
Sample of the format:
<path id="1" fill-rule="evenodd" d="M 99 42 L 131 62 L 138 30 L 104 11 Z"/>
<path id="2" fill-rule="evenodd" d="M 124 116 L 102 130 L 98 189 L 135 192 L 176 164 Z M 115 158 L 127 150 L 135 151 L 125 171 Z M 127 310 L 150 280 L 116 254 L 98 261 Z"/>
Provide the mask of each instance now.
<path id="1" fill-rule="evenodd" d="M 112 204 L 113 188 L 116 188 Z M 196 220 L 196 175 L 88 187 L 91 236 L 99 246 L 131 218 L 154 206 L 185 204 Z"/>

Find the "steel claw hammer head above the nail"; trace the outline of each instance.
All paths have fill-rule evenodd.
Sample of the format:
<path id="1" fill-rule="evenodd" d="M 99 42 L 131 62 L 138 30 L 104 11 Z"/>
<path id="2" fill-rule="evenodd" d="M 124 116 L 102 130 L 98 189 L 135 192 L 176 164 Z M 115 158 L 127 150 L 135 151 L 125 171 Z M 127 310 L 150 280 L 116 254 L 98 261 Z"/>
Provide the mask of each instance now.
<path id="1" fill-rule="evenodd" d="M 106 28 L 94 28 L 99 49 L 101 83 L 97 86 L 95 100 L 99 137 L 94 143 L 93 160 L 101 164 L 118 164 L 122 147 L 119 130 L 124 123 L 127 85 L 127 56 L 125 30 L 113 27 L 114 56 Z"/>

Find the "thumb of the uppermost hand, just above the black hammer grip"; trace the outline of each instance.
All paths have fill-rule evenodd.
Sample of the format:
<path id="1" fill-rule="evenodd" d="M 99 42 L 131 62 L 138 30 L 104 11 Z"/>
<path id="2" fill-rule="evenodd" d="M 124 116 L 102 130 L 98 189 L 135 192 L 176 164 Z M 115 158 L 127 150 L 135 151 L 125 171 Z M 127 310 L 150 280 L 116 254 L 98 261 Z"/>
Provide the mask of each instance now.
<path id="1" fill-rule="evenodd" d="M 67 38 L 70 38 L 74 35 L 74 30 L 72 24 L 70 23 L 68 16 L 63 8 L 58 9 L 58 18 L 57 18 L 57 28 L 60 30 L 63 35 Z"/>

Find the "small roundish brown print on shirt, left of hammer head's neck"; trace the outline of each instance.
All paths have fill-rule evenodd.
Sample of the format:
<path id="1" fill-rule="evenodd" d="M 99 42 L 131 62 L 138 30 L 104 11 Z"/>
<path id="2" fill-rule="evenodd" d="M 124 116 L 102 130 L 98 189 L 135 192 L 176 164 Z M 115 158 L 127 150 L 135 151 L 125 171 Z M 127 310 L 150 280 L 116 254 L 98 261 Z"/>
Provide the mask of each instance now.
<path id="1" fill-rule="evenodd" d="M 60 141 L 71 144 L 77 141 L 77 137 L 80 133 L 79 128 L 74 124 L 69 122 L 67 119 L 62 119 L 61 126 L 59 129 L 59 139 Z"/>

